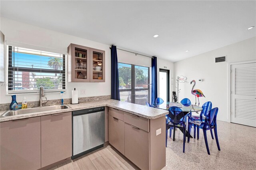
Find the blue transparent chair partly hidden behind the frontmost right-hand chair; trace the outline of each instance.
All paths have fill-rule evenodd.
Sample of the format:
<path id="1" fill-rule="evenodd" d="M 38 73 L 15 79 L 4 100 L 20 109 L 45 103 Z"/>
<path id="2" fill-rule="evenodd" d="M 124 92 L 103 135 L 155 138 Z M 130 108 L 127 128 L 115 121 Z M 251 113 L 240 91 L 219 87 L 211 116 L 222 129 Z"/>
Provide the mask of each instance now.
<path id="1" fill-rule="evenodd" d="M 212 109 L 212 102 L 205 102 L 202 105 L 203 110 L 200 113 L 200 116 L 192 116 L 191 112 L 188 115 L 188 122 L 194 121 L 194 120 L 200 120 L 204 122 L 204 118 L 206 114 Z M 213 134 L 212 134 L 212 129 L 210 129 L 212 139 L 214 139 Z M 196 138 L 196 131 L 194 129 L 194 138 Z M 199 140 L 199 128 L 197 127 L 197 140 Z"/>

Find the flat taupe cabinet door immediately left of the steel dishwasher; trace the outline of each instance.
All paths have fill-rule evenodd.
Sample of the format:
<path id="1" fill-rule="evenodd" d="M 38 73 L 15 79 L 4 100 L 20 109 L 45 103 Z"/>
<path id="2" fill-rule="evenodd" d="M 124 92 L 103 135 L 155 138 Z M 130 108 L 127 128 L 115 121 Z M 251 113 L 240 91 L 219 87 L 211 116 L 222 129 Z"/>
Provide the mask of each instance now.
<path id="1" fill-rule="evenodd" d="M 42 167 L 72 156 L 71 116 L 71 112 L 42 116 Z"/>

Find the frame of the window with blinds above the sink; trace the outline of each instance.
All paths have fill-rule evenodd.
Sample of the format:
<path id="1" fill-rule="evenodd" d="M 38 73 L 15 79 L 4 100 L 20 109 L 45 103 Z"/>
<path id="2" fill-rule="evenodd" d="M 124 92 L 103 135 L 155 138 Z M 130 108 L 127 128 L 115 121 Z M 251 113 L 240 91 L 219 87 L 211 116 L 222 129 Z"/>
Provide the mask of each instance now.
<path id="1" fill-rule="evenodd" d="M 7 45 L 7 51 L 8 51 L 8 67 L 7 67 L 7 93 L 8 94 L 16 94 L 16 93 L 38 93 L 39 90 L 15 90 L 15 86 L 12 86 L 12 84 L 15 84 L 14 82 L 14 72 L 19 71 L 19 72 L 31 72 L 31 68 L 25 68 L 25 67 L 13 67 L 12 66 L 12 52 L 13 48 L 16 46 L 12 45 Z M 17 46 L 18 47 L 18 46 Z M 31 48 L 29 48 L 31 49 Z M 31 50 L 36 50 L 36 49 L 31 49 Z M 15 54 L 15 52 L 14 52 Z M 61 54 L 62 55 L 62 70 L 53 70 L 53 69 L 44 69 L 44 72 L 46 73 L 58 73 L 62 74 L 62 89 L 44 89 L 46 93 L 48 92 L 66 92 L 66 54 Z M 15 60 L 15 58 L 14 58 Z M 40 68 L 33 68 L 33 72 L 41 72 Z M 12 83 L 10 83 L 12 82 Z M 13 89 L 13 90 L 12 90 Z"/>

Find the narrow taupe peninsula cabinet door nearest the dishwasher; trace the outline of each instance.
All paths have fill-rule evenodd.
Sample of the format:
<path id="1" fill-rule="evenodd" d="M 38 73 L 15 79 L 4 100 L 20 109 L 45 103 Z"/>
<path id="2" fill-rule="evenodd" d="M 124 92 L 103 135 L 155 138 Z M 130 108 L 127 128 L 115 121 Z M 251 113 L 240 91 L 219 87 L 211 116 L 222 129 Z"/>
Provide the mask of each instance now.
<path id="1" fill-rule="evenodd" d="M 113 116 L 108 116 L 108 141 L 124 154 L 124 122 Z"/>

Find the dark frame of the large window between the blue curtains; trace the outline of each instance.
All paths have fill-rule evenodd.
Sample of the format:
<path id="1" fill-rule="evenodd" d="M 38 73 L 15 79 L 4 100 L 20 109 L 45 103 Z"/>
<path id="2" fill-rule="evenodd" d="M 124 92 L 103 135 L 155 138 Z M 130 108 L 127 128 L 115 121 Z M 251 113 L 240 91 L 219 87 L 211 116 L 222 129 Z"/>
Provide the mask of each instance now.
<path id="1" fill-rule="evenodd" d="M 124 62 L 118 62 L 118 64 L 129 64 L 129 63 L 124 63 Z M 119 89 L 120 92 L 131 92 L 131 103 L 135 103 L 135 93 L 137 91 L 144 91 L 144 90 L 148 90 L 148 102 L 150 100 L 150 67 L 147 66 L 141 66 L 141 67 L 146 67 L 148 68 L 148 88 L 143 88 L 143 89 L 135 89 L 135 79 L 136 79 L 136 75 L 135 75 L 135 66 L 139 66 L 136 64 L 129 64 L 131 65 L 131 76 L 132 76 L 132 81 L 131 81 L 131 88 L 130 89 Z M 118 75 L 119 78 L 119 75 Z M 145 103 L 146 105 L 146 103 Z"/>

